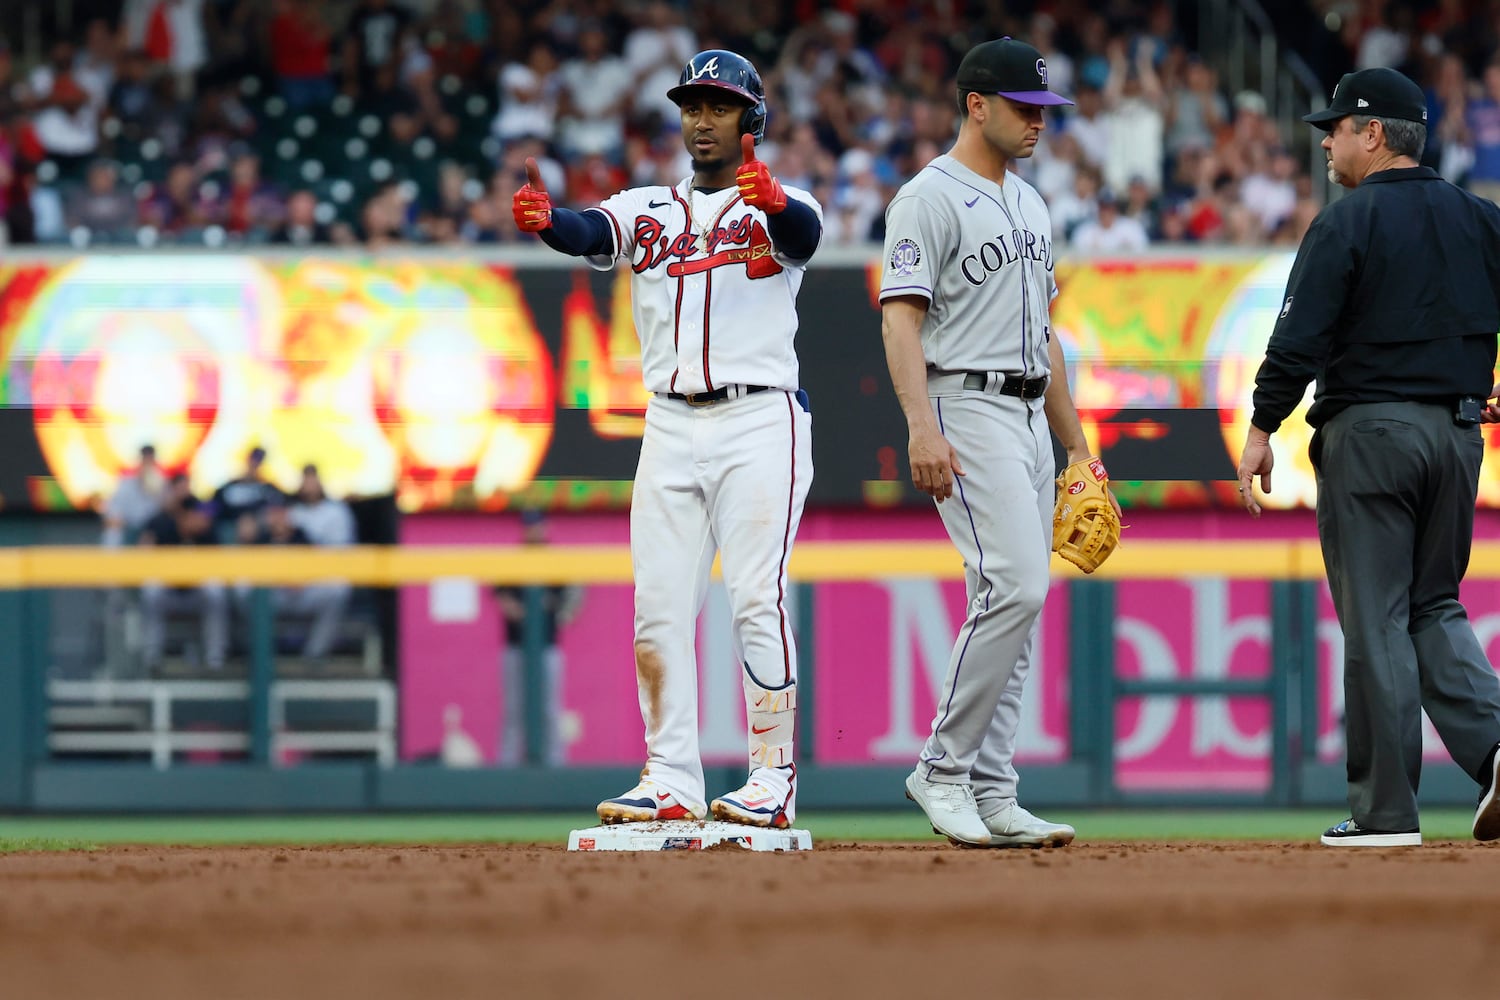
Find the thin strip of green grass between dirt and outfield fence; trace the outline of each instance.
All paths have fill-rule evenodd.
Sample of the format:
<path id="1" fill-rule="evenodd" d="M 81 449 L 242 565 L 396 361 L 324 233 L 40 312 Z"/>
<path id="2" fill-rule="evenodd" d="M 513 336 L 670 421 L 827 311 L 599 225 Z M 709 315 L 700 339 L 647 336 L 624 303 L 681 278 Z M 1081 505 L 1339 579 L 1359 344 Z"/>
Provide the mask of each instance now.
<path id="1" fill-rule="evenodd" d="M 1078 843 L 1258 840 L 1312 843 L 1344 814 L 1338 810 L 1041 810 L 1078 828 Z M 1467 840 L 1472 813 L 1428 810 L 1430 840 Z M 0 817 L 0 853 L 90 850 L 105 844 L 564 844 L 568 831 L 594 826 L 576 814 L 400 816 L 24 816 Z M 914 808 L 897 813 L 810 813 L 796 826 L 818 841 L 927 841 L 932 829 Z"/>

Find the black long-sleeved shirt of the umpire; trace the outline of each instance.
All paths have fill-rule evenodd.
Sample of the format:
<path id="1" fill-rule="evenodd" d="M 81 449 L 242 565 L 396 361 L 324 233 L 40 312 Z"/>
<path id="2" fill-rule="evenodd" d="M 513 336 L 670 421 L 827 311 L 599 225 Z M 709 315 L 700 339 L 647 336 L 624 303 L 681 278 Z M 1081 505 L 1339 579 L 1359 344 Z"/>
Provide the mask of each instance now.
<path id="1" fill-rule="evenodd" d="M 1497 289 L 1500 208 L 1426 166 L 1365 177 L 1298 247 L 1251 423 L 1275 433 L 1314 378 L 1314 427 L 1352 403 L 1490 396 Z"/>

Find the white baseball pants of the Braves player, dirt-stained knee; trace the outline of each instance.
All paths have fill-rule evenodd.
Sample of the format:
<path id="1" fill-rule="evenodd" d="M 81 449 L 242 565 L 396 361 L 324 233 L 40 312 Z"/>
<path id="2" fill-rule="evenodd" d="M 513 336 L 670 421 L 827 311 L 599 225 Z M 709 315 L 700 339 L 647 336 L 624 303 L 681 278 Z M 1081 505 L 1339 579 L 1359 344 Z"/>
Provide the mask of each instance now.
<path id="1" fill-rule="evenodd" d="M 813 480 L 812 429 L 812 414 L 782 390 L 646 406 L 630 505 L 646 774 L 698 814 L 706 799 L 696 636 L 716 553 L 747 690 L 795 691 L 788 562 Z"/>

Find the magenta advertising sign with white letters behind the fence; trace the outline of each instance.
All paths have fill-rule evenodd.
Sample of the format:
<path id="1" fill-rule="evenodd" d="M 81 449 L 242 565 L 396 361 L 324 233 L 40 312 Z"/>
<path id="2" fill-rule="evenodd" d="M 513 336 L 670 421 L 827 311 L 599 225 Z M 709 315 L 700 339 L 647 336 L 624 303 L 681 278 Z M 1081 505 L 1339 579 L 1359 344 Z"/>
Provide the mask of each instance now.
<path id="1" fill-rule="evenodd" d="M 1480 534 L 1500 528 L 1480 514 Z M 1310 513 L 1264 522 L 1224 511 L 1132 513 L 1126 544 L 1150 538 L 1314 537 Z M 626 514 L 564 517 L 552 541 L 626 543 Z M 518 541 L 508 516 L 408 517 L 404 544 Z M 940 540 L 930 511 L 813 511 L 801 540 Z M 915 760 L 963 615 L 962 567 L 954 579 L 890 579 L 816 585 L 812 649 L 816 744 L 822 765 L 904 765 Z M 1500 655 L 1500 583 L 1466 586 L 1474 628 Z M 400 601 L 402 733 L 405 759 L 442 757 L 444 744 L 492 765 L 502 726 L 501 625 L 494 595 L 465 580 L 406 588 Z M 1318 607 L 1318 756 L 1341 760 L 1342 639 L 1326 589 Z M 632 658 L 628 586 L 588 586 L 561 649 L 561 759 L 573 765 L 633 765 L 644 757 Z M 808 642 L 801 636 L 802 643 Z M 700 735 L 708 763 L 746 754 L 740 673 L 729 645 L 729 609 L 714 588 L 699 625 Z M 1068 757 L 1068 588 L 1053 585 L 1038 667 L 1028 682 L 1018 762 Z M 1260 580 L 1125 580 L 1116 589 L 1116 672 L 1122 678 L 1260 678 L 1270 664 L 1270 588 Z M 1125 789 L 1244 790 L 1270 780 L 1270 711 L 1264 699 L 1138 697 L 1116 711 L 1116 781 Z M 1428 756 L 1443 757 L 1431 727 Z M 477 753 L 476 753 L 477 751 Z M 458 759 L 454 759 L 458 762 Z"/>

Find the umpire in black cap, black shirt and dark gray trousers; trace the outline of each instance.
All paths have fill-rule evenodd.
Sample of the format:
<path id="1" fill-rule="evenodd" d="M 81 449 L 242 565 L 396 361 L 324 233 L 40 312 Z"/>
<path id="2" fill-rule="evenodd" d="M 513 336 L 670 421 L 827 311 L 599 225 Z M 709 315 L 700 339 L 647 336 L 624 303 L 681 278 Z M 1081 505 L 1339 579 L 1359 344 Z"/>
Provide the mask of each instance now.
<path id="1" fill-rule="evenodd" d="M 1330 847 L 1422 843 L 1422 717 L 1480 784 L 1474 840 L 1500 840 L 1500 679 L 1458 585 L 1468 568 L 1500 330 L 1500 208 L 1425 166 L 1422 90 L 1392 69 L 1346 75 L 1326 111 L 1329 180 L 1352 189 L 1298 249 L 1256 375 L 1239 460 L 1260 516 L 1270 435 L 1317 379 L 1308 423 L 1317 529 L 1344 628 L 1350 819 Z"/>

